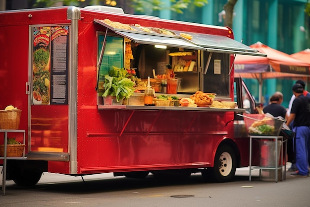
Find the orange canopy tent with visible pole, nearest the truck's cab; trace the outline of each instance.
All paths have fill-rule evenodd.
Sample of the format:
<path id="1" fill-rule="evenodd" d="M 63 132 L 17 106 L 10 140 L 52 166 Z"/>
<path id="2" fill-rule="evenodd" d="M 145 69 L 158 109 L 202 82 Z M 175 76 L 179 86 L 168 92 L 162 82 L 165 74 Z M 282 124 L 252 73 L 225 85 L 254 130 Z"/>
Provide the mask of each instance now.
<path id="1" fill-rule="evenodd" d="M 277 77 L 307 77 L 310 76 L 310 63 L 298 60 L 289 54 L 275 50 L 257 42 L 250 45 L 267 57 L 236 55 L 235 77 L 256 78 L 259 83 L 259 102 L 262 95 L 262 81 Z"/>

